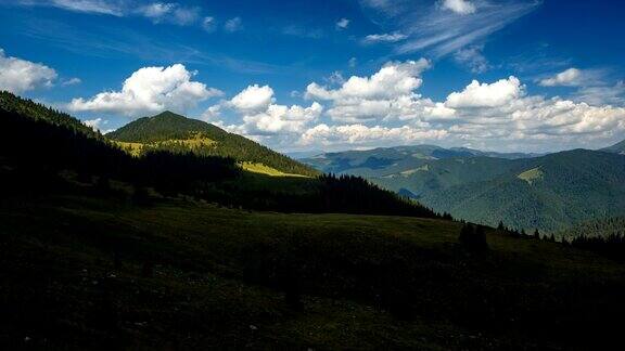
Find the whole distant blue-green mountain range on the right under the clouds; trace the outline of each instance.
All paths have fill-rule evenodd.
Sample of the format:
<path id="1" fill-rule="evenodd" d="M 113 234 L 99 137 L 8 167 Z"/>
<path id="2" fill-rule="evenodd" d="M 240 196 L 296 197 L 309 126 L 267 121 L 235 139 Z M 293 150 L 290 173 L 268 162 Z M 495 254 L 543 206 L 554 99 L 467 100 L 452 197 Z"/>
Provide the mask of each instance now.
<path id="1" fill-rule="evenodd" d="M 553 232 L 625 213 L 624 146 L 537 155 L 418 145 L 302 161 L 323 172 L 365 177 L 456 218 Z"/>

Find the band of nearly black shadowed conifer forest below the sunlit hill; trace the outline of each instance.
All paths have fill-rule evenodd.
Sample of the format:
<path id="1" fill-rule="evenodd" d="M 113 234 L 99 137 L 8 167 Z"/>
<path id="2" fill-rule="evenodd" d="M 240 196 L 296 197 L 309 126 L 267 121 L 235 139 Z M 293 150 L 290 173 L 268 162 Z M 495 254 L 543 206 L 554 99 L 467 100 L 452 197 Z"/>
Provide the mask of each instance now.
<path id="1" fill-rule="evenodd" d="M 12 96 L 12 106 L 31 104 L 9 96 Z M 41 109 L 39 114 L 51 115 L 54 112 Z M 188 121 L 184 117 L 175 117 L 176 120 L 180 118 Z M 65 185 L 59 174 L 71 171 L 76 173 L 75 181 L 86 190 L 100 194 L 120 195 L 111 188 L 111 180 L 129 183 L 135 187 L 131 200 L 144 205 L 150 203 L 145 188 L 154 187 L 166 196 L 183 194 L 229 207 L 436 217 L 419 204 L 401 199 L 355 177 L 272 178 L 251 174 L 243 172 L 231 157 L 190 151 L 150 150 L 141 157 L 131 157 L 99 134 L 79 131 L 72 120 L 53 123 L 44 118 L 0 109 L 0 161 L 14 168 L 10 172 L 0 172 L 0 186 L 20 193 L 62 191 Z M 194 126 L 195 121 L 191 123 Z M 24 135 L 28 139 L 25 140 Z M 245 140 L 228 135 L 229 140 Z M 241 145 L 246 145 L 246 142 Z"/>

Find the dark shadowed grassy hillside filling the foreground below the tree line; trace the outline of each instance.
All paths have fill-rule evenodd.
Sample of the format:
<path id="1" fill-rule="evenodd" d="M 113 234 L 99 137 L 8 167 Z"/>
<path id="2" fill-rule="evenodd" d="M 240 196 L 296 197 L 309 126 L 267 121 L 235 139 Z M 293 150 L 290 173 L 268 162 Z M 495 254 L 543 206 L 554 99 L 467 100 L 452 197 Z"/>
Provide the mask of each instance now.
<path id="1" fill-rule="evenodd" d="M 0 346 L 571 350 L 620 336 L 624 266 L 401 217 L 89 195 L 0 202 Z"/>

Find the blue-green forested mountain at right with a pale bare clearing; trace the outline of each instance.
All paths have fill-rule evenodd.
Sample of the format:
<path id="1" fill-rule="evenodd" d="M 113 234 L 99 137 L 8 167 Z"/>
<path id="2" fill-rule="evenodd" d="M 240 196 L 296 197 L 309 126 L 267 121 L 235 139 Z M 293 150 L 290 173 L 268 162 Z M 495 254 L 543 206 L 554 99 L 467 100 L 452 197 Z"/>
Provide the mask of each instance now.
<path id="1" fill-rule="evenodd" d="M 467 168 L 471 173 L 471 168 Z M 575 150 L 510 160 L 482 180 L 425 191 L 419 200 L 438 211 L 495 225 L 553 232 L 625 213 L 625 158 Z M 375 182 L 375 181 L 373 181 Z"/>

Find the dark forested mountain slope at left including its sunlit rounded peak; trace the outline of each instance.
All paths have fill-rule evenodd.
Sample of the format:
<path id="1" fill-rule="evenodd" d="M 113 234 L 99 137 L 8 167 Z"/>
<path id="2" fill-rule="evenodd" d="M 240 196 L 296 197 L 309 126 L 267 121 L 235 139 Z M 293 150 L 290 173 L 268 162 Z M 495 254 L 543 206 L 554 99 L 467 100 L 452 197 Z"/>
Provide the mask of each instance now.
<path id="1" fill-rule="evenodd" d="M 4 94 L 1 106 L 11 109 L 0 108 L 0 191 L 62 193 L 69 182 L 124 200 L 152 193 L 258 210 L 436 217 L 361 178 L 282 177 L 289 174 L 265 165 L 291 172 L 308 168 L 243 136 L 170 113 L 119 130 L 116 138 L 126 141 L 156 141 L 131 143 L 141 147 L 131 154 L 118 146 L 123 142 L 28 100 Z M 37 114 L 23 114 L 29 110 Z M 170 139 L 184 135 L 193 139 Z"/>

